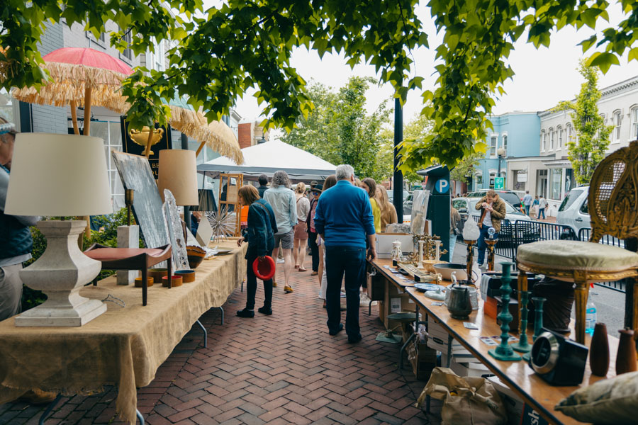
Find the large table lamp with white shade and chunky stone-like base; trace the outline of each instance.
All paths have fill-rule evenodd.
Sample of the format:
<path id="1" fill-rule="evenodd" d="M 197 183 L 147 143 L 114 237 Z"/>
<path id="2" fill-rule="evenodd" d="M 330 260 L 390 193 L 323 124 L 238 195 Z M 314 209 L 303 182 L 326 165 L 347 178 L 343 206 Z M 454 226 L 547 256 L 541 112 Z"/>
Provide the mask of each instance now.
<path id="1" fill-rule="evenodd" d="M 42 216 L 113 212 L 103 140 L 48 133 L 16 135 L 4 212 Z M 82 326 L 106 312 L 100 300 L 79 295 L 101 268 L 77 244 L 85 226 L 84 220 L 38 222 L 47 249 L 20 271 L 20 278 L 48 299 L 16 316 L 16 326 Z"/>

